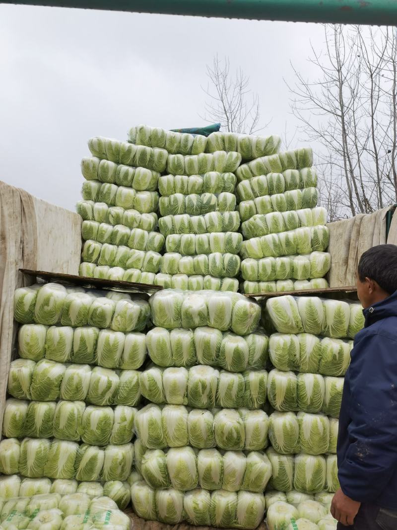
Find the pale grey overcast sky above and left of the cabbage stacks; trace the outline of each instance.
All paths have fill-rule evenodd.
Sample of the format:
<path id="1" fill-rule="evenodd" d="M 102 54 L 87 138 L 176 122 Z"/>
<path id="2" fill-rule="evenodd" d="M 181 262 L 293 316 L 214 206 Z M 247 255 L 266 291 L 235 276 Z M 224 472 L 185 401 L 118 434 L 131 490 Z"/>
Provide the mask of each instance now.
<path id="1" fill-rule="evenodd" d="M 74 210 L 89 137 L 207 125 L 215 54 L 250 77 L 265 132 L 292 136 L 283 77 L 313 75 L 310 42 L 320 25 L 0 5 L 0 179 Z"/>

